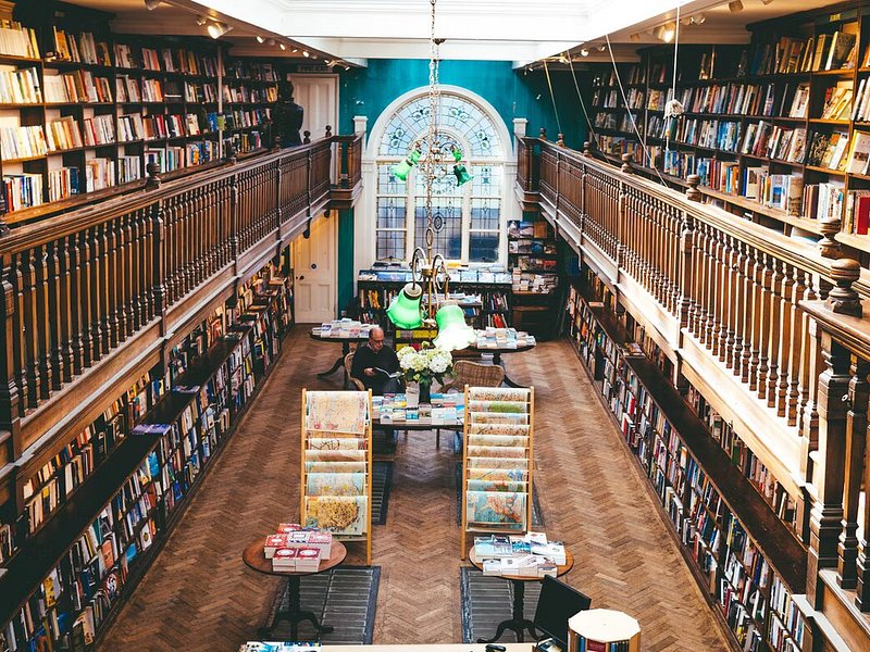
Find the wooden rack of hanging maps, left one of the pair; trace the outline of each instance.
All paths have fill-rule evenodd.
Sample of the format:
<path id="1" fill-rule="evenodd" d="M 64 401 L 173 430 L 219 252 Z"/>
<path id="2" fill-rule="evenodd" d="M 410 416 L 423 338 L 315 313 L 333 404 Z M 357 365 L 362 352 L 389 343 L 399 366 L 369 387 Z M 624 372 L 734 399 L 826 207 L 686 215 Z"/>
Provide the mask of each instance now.
<path id="1" fill-rule="evenodd" d="M 372 563 L 372 393 L 302 389 L 300 523 L 365 541 Z"/>

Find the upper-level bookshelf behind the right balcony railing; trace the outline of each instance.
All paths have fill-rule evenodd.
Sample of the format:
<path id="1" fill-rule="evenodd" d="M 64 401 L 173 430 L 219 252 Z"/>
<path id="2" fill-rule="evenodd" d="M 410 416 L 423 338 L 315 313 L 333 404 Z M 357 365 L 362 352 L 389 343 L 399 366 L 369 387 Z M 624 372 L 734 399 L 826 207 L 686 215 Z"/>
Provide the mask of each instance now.
<path id="1" fill-rule="evenodd" d="M 870 264 L 870 18 L 857 2 L 749 25 L 748 47 L 681 45 L 679 118 L 664 120 L 673 48 L 593 72 L 597 149 L 650 178 L 797 239 L 818 241 L 824 220 Z M 637 123 L 641 138 L 627 115 Z M 645 141 L 647 152 L 641 146 Z"/>

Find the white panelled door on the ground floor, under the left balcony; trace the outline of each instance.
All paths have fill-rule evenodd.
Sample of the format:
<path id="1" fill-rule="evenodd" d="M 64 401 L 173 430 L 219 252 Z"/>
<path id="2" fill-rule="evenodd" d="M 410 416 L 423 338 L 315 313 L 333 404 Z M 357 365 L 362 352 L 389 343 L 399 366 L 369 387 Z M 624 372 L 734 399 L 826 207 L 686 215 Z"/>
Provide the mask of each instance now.
<path id="1" fill-rule="evenodd" d="M 320 216 L 311 223 L 311 237 L 293 241 L 295 274 L 294 309 L 298 323 L 322 324 L 335 319 L 337 311 L 336 262 L 338 216 Z"/>

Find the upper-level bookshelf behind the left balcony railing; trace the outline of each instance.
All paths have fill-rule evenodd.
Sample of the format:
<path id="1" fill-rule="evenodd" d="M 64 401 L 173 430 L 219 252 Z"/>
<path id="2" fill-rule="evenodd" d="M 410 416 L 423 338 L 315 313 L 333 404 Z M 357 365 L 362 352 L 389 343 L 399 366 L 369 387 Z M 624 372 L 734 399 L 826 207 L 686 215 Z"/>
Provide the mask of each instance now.
<path id="1" fill-rule="evenodd" d="M 263 148 L 274 62 L 231 60 L 204 38 L 113 34 L 109 14 L 59 5 L 47 27 L 13 23 L 0 47 L 8 223 L 138 188 L 148 164 L 172 176 L 216 162 L 222 145 Z"/>

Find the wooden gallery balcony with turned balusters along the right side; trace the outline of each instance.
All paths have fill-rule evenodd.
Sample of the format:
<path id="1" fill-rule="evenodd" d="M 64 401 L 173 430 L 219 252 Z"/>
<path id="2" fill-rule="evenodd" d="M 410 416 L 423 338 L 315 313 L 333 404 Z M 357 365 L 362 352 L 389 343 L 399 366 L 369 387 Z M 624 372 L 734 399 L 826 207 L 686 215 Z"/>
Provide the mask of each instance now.
<path id="1" fill-rule="evenodd" d="M 536 138 L 518 155 L 524 209 L 795 500 L 807 578 L 790 589 L 813 636 L 870 649 L 870 272 L 841 258 L 838 223 L 813 246 L 701 203 L 697 177 L 682 193 Z"/>

